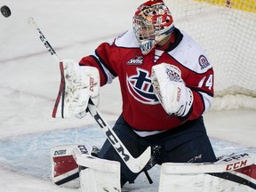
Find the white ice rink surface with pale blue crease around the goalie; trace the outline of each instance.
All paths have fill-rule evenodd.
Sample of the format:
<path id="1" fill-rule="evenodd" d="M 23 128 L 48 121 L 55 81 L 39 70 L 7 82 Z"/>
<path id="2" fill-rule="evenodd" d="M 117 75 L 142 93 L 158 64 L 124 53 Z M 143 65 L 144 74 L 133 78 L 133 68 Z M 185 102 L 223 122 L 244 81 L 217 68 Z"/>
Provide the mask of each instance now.
<path id="1" fill-rule="evenodd" d="M 36 29 L 28 25 L 28 18 L 34 17 L 60 59 L 78 61 L 101 42 L 131 28 L 133 12 L 142 2 L 1 0 L 0 6 L 8 5 L 12 15 L 0 15 L 0 191 L 79 191 L 52 184 L 50 148 L 73 142 L 100 147 L 105 140 L 91 116 L 52 119 L 59 65 L 40 42 Z M 119 116 L 121 105 L 117 80 L 100 89 L 99 109 L 110 124 Z M 204 116 L 216 155 L 256 152 L 255 115 L 255 110 L 236 109 Z M 126 188 L 157 191 L 158 167 L 153 171 L 153 185 L 141 175 Z"/>

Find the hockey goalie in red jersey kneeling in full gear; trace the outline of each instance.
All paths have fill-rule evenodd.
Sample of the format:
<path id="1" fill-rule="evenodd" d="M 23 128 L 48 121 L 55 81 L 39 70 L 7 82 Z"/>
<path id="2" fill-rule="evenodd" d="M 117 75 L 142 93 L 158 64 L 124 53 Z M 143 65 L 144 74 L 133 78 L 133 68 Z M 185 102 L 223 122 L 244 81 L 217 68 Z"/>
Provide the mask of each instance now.
<path id="1" fill-rule="evenodd" d="M 52 148 L 53 182 L 83 192 L 121 191 L 141 172 L 151 183 L 148 170 L 159 164 L 159 192 L 255 190 L 254 156 L 219 160 L 212 149 L 203 115 L 212 105 L 214 74 L 204 49 L 174 26 L 163 0 L 140 4 L 132 26 L 78 63 L 60 60 L 52 116 L 90 112 L 107 140 L 97 153 L 87 144 Z M 123 111 L 110 128 L 97 106 L 100 86 L 116 77 Z"/>

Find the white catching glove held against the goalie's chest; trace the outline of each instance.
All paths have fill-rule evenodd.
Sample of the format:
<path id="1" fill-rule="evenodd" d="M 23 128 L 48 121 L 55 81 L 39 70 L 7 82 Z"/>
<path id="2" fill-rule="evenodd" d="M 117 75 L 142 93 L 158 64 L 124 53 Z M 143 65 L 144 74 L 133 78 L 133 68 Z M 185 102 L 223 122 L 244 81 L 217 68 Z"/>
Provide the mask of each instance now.
<path id="1" fill-rule="evenodd" d="M 167 63 L 155 65 L 152 67 L 151 82 L 167 114 L 187 116 L 194 96 L 182 80 L 180 68 Z"/>

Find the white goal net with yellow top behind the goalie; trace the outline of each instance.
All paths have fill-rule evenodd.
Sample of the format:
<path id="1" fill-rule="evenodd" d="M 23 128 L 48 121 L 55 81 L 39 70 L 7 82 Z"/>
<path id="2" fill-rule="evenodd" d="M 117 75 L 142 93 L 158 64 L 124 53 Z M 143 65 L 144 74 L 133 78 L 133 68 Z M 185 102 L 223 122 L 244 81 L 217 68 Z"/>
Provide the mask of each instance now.
<path id="1" fill-rule="evenodd" d="M 214 70 L 212 109 L 256 109 L 254 0 L 165 0 L 175 26 L 204 47 Z"/>

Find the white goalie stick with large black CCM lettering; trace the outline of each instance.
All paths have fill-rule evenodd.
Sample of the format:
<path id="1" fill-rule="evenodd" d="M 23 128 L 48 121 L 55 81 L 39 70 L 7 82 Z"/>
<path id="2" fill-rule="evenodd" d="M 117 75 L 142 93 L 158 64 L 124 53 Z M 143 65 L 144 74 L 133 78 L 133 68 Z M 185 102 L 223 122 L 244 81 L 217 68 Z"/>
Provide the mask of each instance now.
<path id="1" fill-rule="evenodd" d="M 63 65 L 60 62 L 60 59 L 57 56 L 56 52 L 52 48 L 52 45 L 47 41 L 47 39 L 45 38 L 41 29 L 36 25 L 36 21 L 33 19 L 33 17 L 30 17 L 28 19 L 28 23 L 30 25 L 32 25 L 34 28 L 36 28 L 36 30 L 38 31 L 38 33 L 40 35 L 39 38 L 40 38 L 41 42 L 44 44 L 45 48 L 51 53 L 51 55 L 54 57 L 54 59 L 60 63 L 60 75 L 61 75 L 60 90 L 59 90 L 58 97 L 56 99 L 56 102 L 55 102 L 55 105 L 54 105 L 54 108 L 52 111 L 52 117 L 55 117 L 57 107 L 60 104 L 61 94 L 64 93 L 63 90 L 65 88 Z M 100 128 L 105 132 L 111 145 L 116 149 L 116 152 L 124 161 L 124 164 L 126 164 L 132 172 L 142 171 L 143 168 L 145 167 L 145 165 L 148 164 L 148 160 L 151 157 L 151 148 L 148 147 L 140 156 L 138 156 L 137 158 L 134 158 L 130 154 L 128 149 L 125 148 L 123 142 L 121 140 L 119 140 L 116 133 L 108 125 L 107 121 L 105 121 L 104 118 L 100 115 L 98 108 L 93 104 L 92 100 L 89 101 L 87 110 L 90 112 L 90 114 L 95 119 L 97 124 L 100 125 Z"/>

